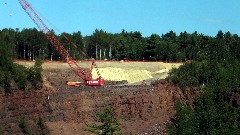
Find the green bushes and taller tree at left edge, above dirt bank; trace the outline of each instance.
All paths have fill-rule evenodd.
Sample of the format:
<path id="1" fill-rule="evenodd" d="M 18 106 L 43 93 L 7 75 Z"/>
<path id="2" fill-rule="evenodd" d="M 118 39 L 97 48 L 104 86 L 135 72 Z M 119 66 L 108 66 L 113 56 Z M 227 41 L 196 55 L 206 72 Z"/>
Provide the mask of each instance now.
<path id="1" fill-rule="evenodd" d="M 39 89 L 42 87 L 42 61 L 39 56 L 31 68 L 13 62 L 19 46 L 14 31 L 0 31 L 0 91 Z"/>

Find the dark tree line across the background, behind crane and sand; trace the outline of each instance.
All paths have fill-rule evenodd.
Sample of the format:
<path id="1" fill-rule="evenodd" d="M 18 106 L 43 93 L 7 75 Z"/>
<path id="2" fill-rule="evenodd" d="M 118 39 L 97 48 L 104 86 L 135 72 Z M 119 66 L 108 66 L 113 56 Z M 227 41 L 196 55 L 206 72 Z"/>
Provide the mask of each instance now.
<path id="1" fill-rule="evenodd" d="M 61 60 L 61 56 L 46 36 L 35 28 L 2 29 L 0 33 L 8 36 L 2 40 L 11 42 L 10 55 L 14 59 L 35 60 L 42 56 L 45 60 Z M 94 58 L 181 62 L 212 59 L 212 57 L 224 58 L 228 55 L 240 57 L 238 53 L 240 37 L 221 30 L 214 37 L 186 31 L 179 35 L 169 31 L 162 35 L 152 34 L 143 37 L 138 31 L 122 30 L 121 33 L 112 34 L 98 29 L 90 36 L 82 36 L 80 31 L 55 35 L 76 60 Z M 83 55 L 82 52 L 87 55 Z"/>

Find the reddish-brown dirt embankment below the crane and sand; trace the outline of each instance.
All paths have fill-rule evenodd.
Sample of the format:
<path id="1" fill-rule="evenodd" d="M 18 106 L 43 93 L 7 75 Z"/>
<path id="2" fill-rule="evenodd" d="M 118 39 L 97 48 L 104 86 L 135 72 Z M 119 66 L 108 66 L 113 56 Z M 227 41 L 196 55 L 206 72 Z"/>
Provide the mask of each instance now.
<path id="1" fill-rule="evenodd" d="M 165 80 L 153 86 L 69 87 L 65 81 L 77 78 L 69 69 L 45 68 L 43 74 L 41 91 L 1 96 L 0 133 L 1 129 L 7 129 L 6 134 L 19 133 L 19 118 L 25 116 L 35 125 L 42 117 L 53 135 L 88 134 L 84 127 L 95 122 L 95 113 L 112 106 L 124 134 L 165 134 L 176 100 L 191 103 L 196 95 L 193 90 L 184 93 Z M 29 128 L 39 130 L 37 125 Z"/>

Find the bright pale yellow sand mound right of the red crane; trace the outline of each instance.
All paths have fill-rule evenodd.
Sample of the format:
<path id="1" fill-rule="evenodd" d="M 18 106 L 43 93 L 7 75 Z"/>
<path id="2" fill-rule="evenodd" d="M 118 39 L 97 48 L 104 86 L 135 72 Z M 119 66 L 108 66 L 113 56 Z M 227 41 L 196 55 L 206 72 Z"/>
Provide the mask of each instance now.
<path id="1" fill-rule="evenodd" d="M 101 63 L 103 64 L 103 63 Z M 164 79 L 172 68 L 178 68 L 182 64 L 163 62 L 125 62 L 105 63 L 100 65 L 99 72 L 105 80 L 127 80 L 128 83 L 141 82 L 149 79 Z M 96 70 L 93 70 L 93 78 L 97 78 Z"/>

